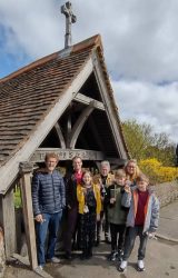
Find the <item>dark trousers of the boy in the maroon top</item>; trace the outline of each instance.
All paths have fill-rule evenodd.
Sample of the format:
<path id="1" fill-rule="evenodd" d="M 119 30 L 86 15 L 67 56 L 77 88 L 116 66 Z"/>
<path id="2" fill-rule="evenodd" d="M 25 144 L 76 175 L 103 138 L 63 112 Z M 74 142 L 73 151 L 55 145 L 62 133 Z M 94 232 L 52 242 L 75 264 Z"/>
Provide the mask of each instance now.
<path id="1" fill-rule="evenodd" d="M 148 236 L 146 234 L 142 234 L 142 230 L 144 230 L 142 226 L 135 226 L 128 228 L 125 242 L 125 250 L 123 250 L 123 260 L 128 260 L 132 251 L 132 248 L 135 246 L 135 240 L 137 236 L 139 236 L 140 238 L 140 244 L 138 248 L 138 260 L 142 260 L 145 258 Z"/>

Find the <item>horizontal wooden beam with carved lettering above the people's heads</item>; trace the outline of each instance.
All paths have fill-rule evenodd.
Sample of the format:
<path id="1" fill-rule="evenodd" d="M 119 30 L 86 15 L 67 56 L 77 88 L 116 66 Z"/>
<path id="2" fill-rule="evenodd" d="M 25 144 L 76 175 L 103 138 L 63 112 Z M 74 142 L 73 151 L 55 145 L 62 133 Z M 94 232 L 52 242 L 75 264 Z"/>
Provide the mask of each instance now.
<path id="1" fill-rule="evenodd" d="M 46 153 L 55 152 L 59 156 L 59 160 L 72 160 L 75 156 L 81 157 L 82 160 L 98 160 L 105 159 L 105 153 L 96 150 L 82 149 L 58 149 L 58 148 L 39 148 L 31 157 L 31 162 L 43 162 Z"/>

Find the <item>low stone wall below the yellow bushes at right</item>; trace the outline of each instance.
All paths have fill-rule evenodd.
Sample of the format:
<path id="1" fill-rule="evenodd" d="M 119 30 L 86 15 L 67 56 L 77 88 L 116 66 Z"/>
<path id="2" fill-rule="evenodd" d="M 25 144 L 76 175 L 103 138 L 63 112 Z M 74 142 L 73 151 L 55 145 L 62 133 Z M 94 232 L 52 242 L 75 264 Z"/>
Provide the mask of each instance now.
<path id="1" fill-rule="evenodd" d="M 178 199 L 178 181 L 156 185 L 152 186 L 152 189 L 155 190 L 161 207 Z"/>

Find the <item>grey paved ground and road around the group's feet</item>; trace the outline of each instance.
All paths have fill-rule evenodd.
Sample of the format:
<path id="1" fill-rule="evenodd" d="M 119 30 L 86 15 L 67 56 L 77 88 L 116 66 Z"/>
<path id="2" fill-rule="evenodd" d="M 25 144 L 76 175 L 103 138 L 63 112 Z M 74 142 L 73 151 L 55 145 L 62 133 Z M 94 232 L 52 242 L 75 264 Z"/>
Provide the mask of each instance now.
<path id="1" fill-rule="evenodd" d="M 164 238 L 175 238 L 178 241 L 178 201 L 161 209 L 159 234 Z M 71 262 L 62 260 L 53 266 L 48 264 L 46 271 L 53 278 L 177 278 L 178 277 L 178 242 L 158 239 L 149 240 L 146 256 L 146 271 L 136 270 L 137 245 L 129 259 L 128 269 L 120 274 L 117 265 L 107 261 L 106 256 L 110 246 L 101 244 L 95 249 L 95 256 L 90 260 L 81 261 L 76 258 Z M 6 278 L 38 278 L 23 266 L 9 266 Z"/>

